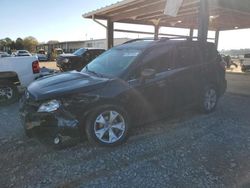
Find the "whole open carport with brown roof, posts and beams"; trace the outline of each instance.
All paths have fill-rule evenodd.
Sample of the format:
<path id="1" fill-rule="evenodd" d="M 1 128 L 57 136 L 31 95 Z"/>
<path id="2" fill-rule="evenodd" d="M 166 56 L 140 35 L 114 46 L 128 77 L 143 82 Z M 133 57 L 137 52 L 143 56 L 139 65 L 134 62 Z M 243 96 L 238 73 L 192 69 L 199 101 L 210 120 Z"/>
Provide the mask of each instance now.
<path id="1" fill-rule="evenodd" d="M 216 31 L 218 45 L 219 32 L 224 30 L 250 28 L 249 0 L 183 0 L 176 17 L 164 14 L 167 0 L 124 0 L 116 4 L 83 14 L 94 21 L 107 20 L 107 47 L 113 46 L 114 31 L 142 34 L 175 36 L 159 33 L 160 27 L 189 28 L 190 36 L 198 29 L 198 39 L 207 40 L 208 30 Z M 154 33 L 114 29 L 114 23 L 153 25 Z M 100 23 L 100 22 L 98 22 Z M 101 23 L 100 23 L 101 24 Z"/>

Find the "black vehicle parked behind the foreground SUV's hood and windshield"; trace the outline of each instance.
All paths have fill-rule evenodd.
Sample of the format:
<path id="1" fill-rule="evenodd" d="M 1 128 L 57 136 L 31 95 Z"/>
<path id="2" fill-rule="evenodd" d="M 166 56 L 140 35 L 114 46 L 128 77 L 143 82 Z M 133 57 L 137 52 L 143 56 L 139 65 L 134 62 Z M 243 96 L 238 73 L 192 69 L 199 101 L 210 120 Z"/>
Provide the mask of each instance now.
<path id="1" fill-rule="evenodd" d="M 102 54 L 104 49 L 80 48 L 73 54 L 62 54 L 57 58 L 56 65 L 64 71 L 82 70 L 90 61 Z"/>

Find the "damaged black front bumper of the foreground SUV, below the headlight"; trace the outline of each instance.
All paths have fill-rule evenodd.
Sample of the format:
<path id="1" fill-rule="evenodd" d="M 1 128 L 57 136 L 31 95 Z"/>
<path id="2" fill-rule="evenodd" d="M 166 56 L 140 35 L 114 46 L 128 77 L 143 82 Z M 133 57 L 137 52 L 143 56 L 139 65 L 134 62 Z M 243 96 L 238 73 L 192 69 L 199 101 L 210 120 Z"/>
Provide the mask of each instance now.
<path id="1" fill-rule="evenodd" d="M 79 121 L 63 106 L 53 112 L 37 112 L 39 106 L 34 102 L 20 101 L 20 118 L 27 136 L 79 136 Z"/>

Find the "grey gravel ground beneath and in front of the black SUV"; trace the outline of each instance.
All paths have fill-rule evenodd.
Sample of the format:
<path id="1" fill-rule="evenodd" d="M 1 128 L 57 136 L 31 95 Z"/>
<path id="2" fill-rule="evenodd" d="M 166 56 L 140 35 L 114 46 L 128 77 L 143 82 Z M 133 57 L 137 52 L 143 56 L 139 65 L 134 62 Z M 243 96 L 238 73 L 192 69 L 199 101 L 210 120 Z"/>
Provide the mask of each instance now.
<path id="1" fill-rule="evenodd" d="M 126 144 L 55 150 L 0 107 L 0 187 L 250 187 L 250 99 L 227 93 L 196 111 L 133 129 Z"/>

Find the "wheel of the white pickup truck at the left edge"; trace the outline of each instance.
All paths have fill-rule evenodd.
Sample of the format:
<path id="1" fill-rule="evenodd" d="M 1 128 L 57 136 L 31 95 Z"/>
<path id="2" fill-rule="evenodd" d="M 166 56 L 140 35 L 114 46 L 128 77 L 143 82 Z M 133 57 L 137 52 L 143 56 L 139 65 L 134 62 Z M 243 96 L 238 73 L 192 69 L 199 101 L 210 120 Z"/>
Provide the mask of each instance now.
<path id="1" fill-rule="evenodd" d="M 17 87 L 8 80 L 0 81 L 0 105 L 12 104 L 18 100 Z"/>

